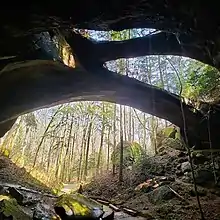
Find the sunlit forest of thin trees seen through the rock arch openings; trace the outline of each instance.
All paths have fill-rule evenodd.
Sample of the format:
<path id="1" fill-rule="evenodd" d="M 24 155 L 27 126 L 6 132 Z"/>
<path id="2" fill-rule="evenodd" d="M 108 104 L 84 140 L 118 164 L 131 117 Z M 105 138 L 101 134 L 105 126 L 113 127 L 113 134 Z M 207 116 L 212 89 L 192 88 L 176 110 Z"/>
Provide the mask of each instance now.
<path id="1" fill-rule="evenodd" d="M 84 37 L 96 41 L 124 41 L 146 37 L 155 34 L 155 32 L 153 29 L 145 28 L 108 32 L 80 31 Z M 42 42 L 51 46 L 47 38 Z M 60 45 L 59 43 L 56 46 L 57 57 L 61 58 L 65 65 L 74 67 L 77 60 L 74 59 L 69 46 L 66 44 Z M 210 114 L 218 110 L 220 101 L 219 71 L 208 64 L 183 56 L 150 55 L 108 61 L 105 63 L 105 67 L 120 75 L 147 83 L 160 91 L 166 91 L 173 96 L 176 95 L 180 102 L 190 106 L 192 112 L 199 112 L 208 122 Z M 108 84 L 108 81 L 106 81 L 106 84 Z M 112 91 L 109 91 L 110 95 L 111 93 Z M 152 103 L 149 105 L 154 109 L 157 107 L 157 103 L 154 101 L 154 90 L 150 95 L 153 98 Z M 141 98 L 144 99 L 144 97 Z M 210 106 L 215 106 L 216 109 Z M 172 106 L 169 106 L 169 102 L 164 106 L 164 109 L 166 111 L 170 109 L 172 112 Z M 184 117 L 184 111 L 182 117 Z M 188 123 L 187 120 L 185 122 Z M 210 125 L 207 128 L 209 134 Z M 74 100 L 74 102 L 42 108 L 19 116 L 11 129 L 0 139 L 0 150 L 1 154 L 9 158 L 17 167 L 23 168 L 25 172 L 46 187 L 53 189 L 56 193 L 69 184 L 72 191 L 81 186 L 86 196 L 92 195 L 93 197 L 96 190 L 103 187 L 104 192 L 98 193 L 98 197 L 102 200 L 111 199 L 112 195 L 108 191 L 111 188 L 115 191 L 115 188 L 118 187 L 116 194 L 119 194 L 120 190 L 126 193 L 128 188 L 131 190 L 131 188 L 137 189 L 138 187 L 143 194 L 146 194 L 146 190 L 147 192 L 148 190 L 152 191 L 152 187 L 159 184 L 159 182 L 164 183 L 162 177 L 171 178 L 172 176 L 173 178 L 173 175 L 176 175 L 177 178 L 189 178 L 189 173 L 194 174 L 193 169 L 197 171 L 200 168 L 200 165 L 194 167 L 195 164 L 192 164 L 198 162 L 195 161 L 195 155 L 197 159 L 199 158 L 198 160 L 205 157 L 205 160 L 211 163 L 211 174 L 205 174 L 205 177 L 203 177 L 208 178 L 211 175 L 208 182 L 211 181 L 209 183 L 212 184 L 214 181 L 215 186 L 219 187 L 219 151 L 212 148 L 211 136 L 209 135 L 208 150 L 204 153 L 203 151 L 194 151 L 193 148 L 196 146 L 191 146 L 192 149 L 189 149 L 186 142 L 187 138 L 184 139 L 182 134 L 176 124 L 142 112 L 134 107 L 116 104 L 113 101 Z M 164 140 L 168 142 L 165 143 Z M 177 164 L 172 164 L 176 158 L 169 155 L 170 152 L 173 152 L 173 149 L 175 150 L 173 154 L 179 157 Z M 189 153 L 192 171 L 190 171 L 191 168 L 185 169 L 183 165 L 184 163 L 186 165 L 188 161 L 187 153 Z M 167 169 L 159 172 L 157 169 L 165 165 L 158 165 L 157 163 L 167 155 L 168 159 L 171 159 L 172 168 L 170 168 L 171 170 Z M 180 155 L 185 155 L 185 157 L 182 158 Z M 151 166 L 155 168 L 155 171 L 152 171 L 152 167 L 149 168 L 148 163 L 152 163 Z M 176 170 L 173 171 L 172 169 L 175 166 L 181 167 L 182 173 L 178 173 Z M 144 177 L 141 177 L 143 175 Z M 161 179 L 157 180 L 158 176 Z M 112 183 L 109 178 L 114 179 L 116 182 Z M 201 177 L 199 176 L 199 178 Z M 152 185 L 148 180 L 155 182 Z M 130 181 L 129 187 L 126 188 L 128 181 Z M 193 188 L 193 184 L 195 184 L 195 194 L 202 213 L 204 210 L 201 209 L 198 194 L 202 194 L 201 191 L 206 189 L 196 187 L 195 177 L 188 181 L 185 180 L 187 184 L 191 184 L 188 187 Z M 165 185 L 170 184 L 170 181 L 167 182 L 169 183 L 165 183 Z M 161 184 L 160 187 L 162 186 Z M 155 186 L 155 188 L 157 187 L 159 185 Z M 181 201 L 190 200 L 185 197 L 185 188 L 177 192 L 178 190 L 174 186 L 170 185 L 169 187 Z M 193 189 L 190 188 L 190 190 L 191 193 L 194 192 Z M 220 192 L 217 189 L 215 190 Z M 208 198 L 208 190 L 206 191 Z M 129 199 L 132 200 L 135 196 L 132 192 L 129 191 L 129 193 L 131 194 Z M 114 199 L 116 205 L 120 205 L 121 200 L 123 200 L 117 196 L 112 199 Z M 124 198 L 124 200 L 126 199 Z M 204 202 L 203 200 L 202 202 Z M 196 201 L 194 202 L 197 204 Z M 213 212 L 213 210 L 205 210 L 208 212 L 206 215 L 210 217 L 209 219 L 220 218 L 217 211 L 218 204 L 220 204 L 218 202 L 219 197 L 217 203 L 215 205 L 213 203 L 213 207 L 216 207 L 214 217 L 210 217 L 210 212 Z M 181 206 L 181 204 L 178 205 Z M 134 208 L 134 205 L 130 204 L 128 207 Z M 136 209 L 144 208 L 137 205 Z M 197 219 L 200 216 L 197 211 L 196 213 L 192 212 L 193 218 L 191 216 L 187 219 Z M 157 213 L 157 217 L 166 215 L 164 214 L 165 210 L 161 212 L 160 215 Z M 154 219 L 149 213 L 142 214 L 142 217 Z M 176 217 L 173 215 L 166 219 L 181 219 L 182 217 L 176 214 Z M 203 213 L 202 217 L 204 217 Z M 116 219 L 120 219 L 120 216 Z M 165 219 L 165 217 L 157 219 Z M 200 218 L 198 217 L 198 219 Z"/>

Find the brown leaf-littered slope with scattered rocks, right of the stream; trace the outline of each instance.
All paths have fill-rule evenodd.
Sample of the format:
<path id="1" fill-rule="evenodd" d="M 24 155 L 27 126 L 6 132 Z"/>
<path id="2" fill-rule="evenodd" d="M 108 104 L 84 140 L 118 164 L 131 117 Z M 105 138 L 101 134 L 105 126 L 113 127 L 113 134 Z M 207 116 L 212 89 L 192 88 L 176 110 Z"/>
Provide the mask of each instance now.
<path id="1" fill-rule="evenodd" d="M 210 155 L 197 153 L 193 160 L 205 219 L 220 220 L 220 185 L 214 184 Z M 219 155 L 215 155 L 215 163 L 219 176 Z M 119 183 L 117 174 L 105 173 L 86 185 L 84 193 L 134 209 L 146 219 L 201 219 L 184 151 L 163 149 L 157 156 L 142 159 L 140 164 L 124 171 L 123 183 Z"/>

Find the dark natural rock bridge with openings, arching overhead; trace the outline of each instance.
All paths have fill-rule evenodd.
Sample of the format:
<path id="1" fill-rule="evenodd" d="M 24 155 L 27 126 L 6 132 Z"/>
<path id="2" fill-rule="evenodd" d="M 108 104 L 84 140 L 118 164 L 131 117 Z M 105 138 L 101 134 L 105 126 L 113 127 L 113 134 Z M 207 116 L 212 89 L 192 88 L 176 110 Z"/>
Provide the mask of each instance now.
<path id="1" fill-rule="evenodd" d="M 179 97 L 127 76 L 103 64 L 118 58 L 144 55 L 178 55 L 220 68 L 217 3 L 101 0 L 19 2 L 0 9 L 0 134 L 24 113 L 79 100 L 104 100 L 130 105 L 164 118 L 183 130 Z M 119 42 L 93 42 L 77 29 L 123 30 L 154 28 L 142 38 Z M 54 61 L 38 44 L 37 36 L 61 36 L 76 58 L 76 68 Z M 25 61 L 24 63 L 19 63 Z M 154 106 L 154 107 L 153 107 Z M 207 147 L 207 119 L 183 103 L 190 145 Z M 219 112 L 211 115 L 213 147 L 219 147 Z"/>

